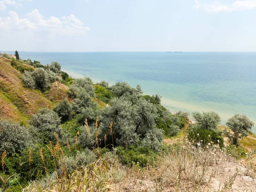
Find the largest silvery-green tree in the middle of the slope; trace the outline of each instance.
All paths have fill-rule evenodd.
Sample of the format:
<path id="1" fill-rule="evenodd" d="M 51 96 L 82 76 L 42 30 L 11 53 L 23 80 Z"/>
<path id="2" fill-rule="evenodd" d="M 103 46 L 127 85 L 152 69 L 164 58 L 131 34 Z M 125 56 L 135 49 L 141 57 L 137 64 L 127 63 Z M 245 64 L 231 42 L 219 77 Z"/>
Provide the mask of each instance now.
<path id="1" fill-rule="evenodd" d="M 99 138 L 103 140 L 107 136 L 107 144 L 114 145 L 138 145 L 145 137 L 150 148 L 157 148 L 158 144 L 152 144 L 157 140 L 150 140 L 151 135 L 154 138 L 162 138 L 163 131 L 160 130 L 162 137 L 159 137 L 159 131 L 155 131 L 155 121 L 157 119 L 157 110 L 153 104 L 143 98 L 138 99 L 136 104 L 133 104 L 128 99 L 123 97 L 111 99 L 111 105 L 102 111 L 99 124 Z M 112 124 L 112 134 L 110 134 L 110 122 Z M 161 143 L 162 139 L 158 140 Z M 155 147 L 152 147 L 152 146 Z"/>

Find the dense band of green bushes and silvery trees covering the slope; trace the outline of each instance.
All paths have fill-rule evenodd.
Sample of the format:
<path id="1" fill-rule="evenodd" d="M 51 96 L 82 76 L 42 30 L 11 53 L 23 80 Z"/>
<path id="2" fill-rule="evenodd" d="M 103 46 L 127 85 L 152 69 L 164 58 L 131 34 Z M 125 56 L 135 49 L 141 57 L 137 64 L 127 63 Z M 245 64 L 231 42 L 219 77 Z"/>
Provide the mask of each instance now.
<path id="1" fill-rule="evenodd" d="M 72 79 L 58 62 L 45 66 L 30 59 L 22 62 L 12 58 L 11 66 L 23 73 L 24 87 L 45 93 L 59 81 L 70 92 L 54 108 L 39 109 L 26 126 L 12 119 L 0 121 L 0 187 L 6 191 L 20 191 L 34 180 L 66 177 L 102 157 L 117 158 L 123 165 L 152 166 L 160 151 L 170 150 L 163 145 L 164 137 L 177 136 L 181 130 L 196 148 L 224 148 L 223 133 L 217 128 L 221 119 L 215 112 L 193 113 L 192 124 L 189 113 L 172 114 L 161 105 L 159 95 L 143 95 L 140 85 L 93 84 L 88 77 Z M 237 148 L 238 138 L 248 135 L 253 122 L 235 115 L 227 126 L 231 131 L 224 135 L 235 145 L 230 151 L 242 150 Z"/>

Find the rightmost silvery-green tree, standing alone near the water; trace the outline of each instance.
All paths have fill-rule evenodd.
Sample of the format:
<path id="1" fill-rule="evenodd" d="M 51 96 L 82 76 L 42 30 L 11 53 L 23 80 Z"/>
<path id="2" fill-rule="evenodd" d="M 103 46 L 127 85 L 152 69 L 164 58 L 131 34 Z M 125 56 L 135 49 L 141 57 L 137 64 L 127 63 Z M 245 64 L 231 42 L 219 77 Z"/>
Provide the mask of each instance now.
<path id="1" fill-rule="evenodd" d="M 230 139 L 232 145 L 239 145 L 239 138 L 247 137 L 254 123 L 245 115 L 235 114 L 227 120 L 226 125 L 231 129 L 225 129 L 224 134 Z"/>

